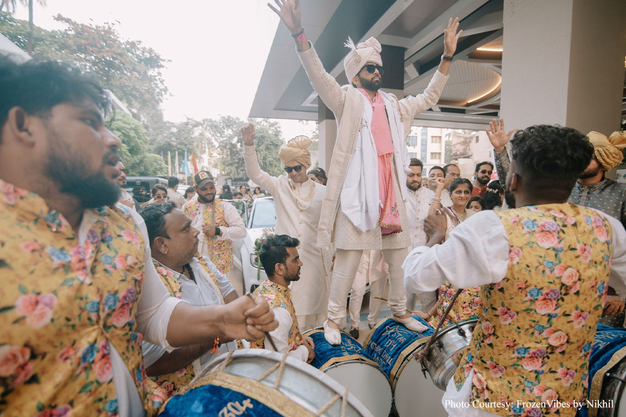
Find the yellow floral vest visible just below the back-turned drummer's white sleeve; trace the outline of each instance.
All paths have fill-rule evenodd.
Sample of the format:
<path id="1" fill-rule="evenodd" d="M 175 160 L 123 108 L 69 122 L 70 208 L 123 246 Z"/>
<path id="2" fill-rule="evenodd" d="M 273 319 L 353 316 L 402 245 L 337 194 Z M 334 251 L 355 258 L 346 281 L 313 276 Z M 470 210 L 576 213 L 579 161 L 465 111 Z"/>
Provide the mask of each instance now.
<path id="1" fill-rule="evenodd" d="M 439 320 L 446 313 L 450 301 L 456 293 L 456 287 L 446 281 L 439 287 L 439 301 L 437 303 L 437 314 L 433 314 L 428 323 L 436 327 Z M 453 324 L 454 321 L 463 321 L 480 318 L 483 315 L 483 303 L 480 301 L 480 287 L 471 287 L 463 290 L 454 301 L 450 313 L 443 322 L 442 328 Z"/>

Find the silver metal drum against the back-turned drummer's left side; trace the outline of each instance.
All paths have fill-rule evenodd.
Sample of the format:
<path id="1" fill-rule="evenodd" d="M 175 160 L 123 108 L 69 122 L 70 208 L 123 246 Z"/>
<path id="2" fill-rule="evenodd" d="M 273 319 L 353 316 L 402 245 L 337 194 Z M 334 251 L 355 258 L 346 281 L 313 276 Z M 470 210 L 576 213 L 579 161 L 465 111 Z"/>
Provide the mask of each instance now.
<path id="1" fill-rule="evenodd" d="M 461 350 L 469 346 L 477 319 L 451 324 L 437 334 L 426 359 L 426 369 L 438 388 L 446 390 L 448 381 L 461 361 Z"/>

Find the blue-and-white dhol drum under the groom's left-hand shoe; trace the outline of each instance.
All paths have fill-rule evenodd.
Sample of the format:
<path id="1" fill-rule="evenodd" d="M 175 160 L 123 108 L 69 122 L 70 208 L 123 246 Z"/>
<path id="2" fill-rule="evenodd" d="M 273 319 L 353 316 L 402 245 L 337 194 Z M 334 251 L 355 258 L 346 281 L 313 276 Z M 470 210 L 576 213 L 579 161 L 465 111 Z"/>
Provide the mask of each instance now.
<path id="1" fill-rule="evenodd" d="M 311 329 L 304 334 L 315 343 L 312 366 L 347 386 L 374 416 L 389 416 L 393 401 L 389 379 L 376 362 L 367 358 L 359 342 L 344 331 L 339 346 L 326 341 L 323 328 Z"/>

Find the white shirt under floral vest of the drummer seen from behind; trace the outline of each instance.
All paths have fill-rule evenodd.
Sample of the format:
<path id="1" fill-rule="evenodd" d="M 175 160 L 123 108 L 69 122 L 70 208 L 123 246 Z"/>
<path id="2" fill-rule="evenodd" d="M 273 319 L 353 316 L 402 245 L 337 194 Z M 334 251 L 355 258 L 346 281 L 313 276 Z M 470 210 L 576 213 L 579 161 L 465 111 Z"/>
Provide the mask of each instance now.
<path id="1" fill-rule="evenodd" d="M 620 296 L 626 296 L 626 230 L 622 223 L 602 213 L 613 229 L 613 263 L 608 285 Z M 433 248 L 413 249 L 403 264 L 404 286 L 409 293 L 433 291 L 446 280 L 457 288 L 495 284 L 505 278 L 508 269 L 509 243 L 505 228 L 496 213 L 480 211 L 450 232 L 448 240 Z M 468 401 L 471 391 L 470 371 L 463 386 L 456 391 L 450 379 L 441 403 Z M 493 416 L 495 414 L 470 407 L 446 407 L 451 417 Z"/>

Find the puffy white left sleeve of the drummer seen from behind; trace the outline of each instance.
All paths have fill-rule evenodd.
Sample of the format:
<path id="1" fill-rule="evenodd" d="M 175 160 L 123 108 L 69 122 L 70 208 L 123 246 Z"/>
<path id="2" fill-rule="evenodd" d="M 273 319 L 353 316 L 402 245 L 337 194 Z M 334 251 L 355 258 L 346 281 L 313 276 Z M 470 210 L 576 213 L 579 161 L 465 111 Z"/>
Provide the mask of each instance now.
<path id="1" fill-rule="evenodd" d="M 509 243 L 500 218 L 482 211 L 450 232 L 433 248 L 413 249 L 403 264 L 409 293 L 433 291 L 445 281 L 468 288 L 501 281 L 508 268 Z"/>

